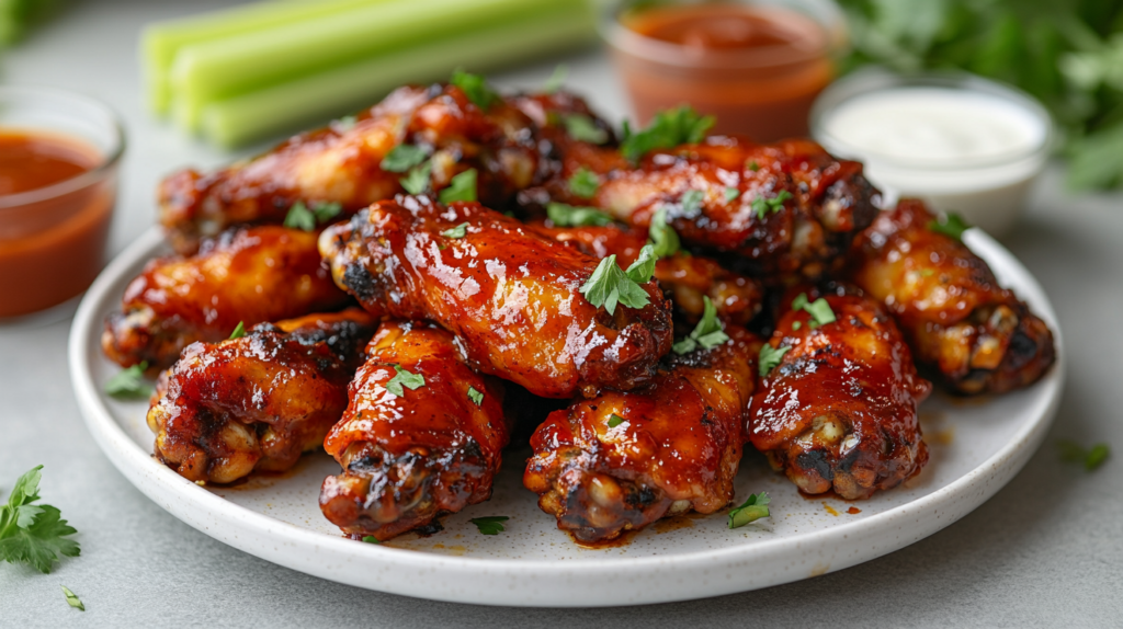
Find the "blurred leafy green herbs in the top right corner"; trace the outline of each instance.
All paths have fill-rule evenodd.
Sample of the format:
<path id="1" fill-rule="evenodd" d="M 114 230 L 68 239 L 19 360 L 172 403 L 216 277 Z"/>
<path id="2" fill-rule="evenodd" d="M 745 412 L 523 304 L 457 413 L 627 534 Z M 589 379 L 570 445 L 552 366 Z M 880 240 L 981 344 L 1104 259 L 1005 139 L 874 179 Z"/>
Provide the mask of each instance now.
<path id="1" fill-rule="evenodd" d="M 1052 112 L 1075 188 L 1123 185 L 1123 1 L 837 0 L 853 49 L 843 70 L 958 68 Z"/>

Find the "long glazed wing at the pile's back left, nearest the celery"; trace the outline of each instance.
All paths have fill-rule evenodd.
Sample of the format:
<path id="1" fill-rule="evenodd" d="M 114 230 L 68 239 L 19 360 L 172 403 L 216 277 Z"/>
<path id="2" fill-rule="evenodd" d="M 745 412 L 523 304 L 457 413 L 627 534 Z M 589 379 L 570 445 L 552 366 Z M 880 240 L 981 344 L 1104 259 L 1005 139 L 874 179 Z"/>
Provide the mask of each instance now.
<path id="1" fill-rule="evenodd" d="M 539 174 L 532 122 L 499 100 L 482 111 L 453 85 L 407 86 L 355 117 L 295 136 L 273 150 L 217 170 L 183 170 L 159 186 L 161 223 L 172 246 L 191 252 L 229 225 L 281 223 L 296 202 L 339 203 L 341 218 L 402 192 L 404 173 L 382 169 L 401 144 L 432 155 L 435 189 L 475 168 L 478 195 L 502 205 Z"/>

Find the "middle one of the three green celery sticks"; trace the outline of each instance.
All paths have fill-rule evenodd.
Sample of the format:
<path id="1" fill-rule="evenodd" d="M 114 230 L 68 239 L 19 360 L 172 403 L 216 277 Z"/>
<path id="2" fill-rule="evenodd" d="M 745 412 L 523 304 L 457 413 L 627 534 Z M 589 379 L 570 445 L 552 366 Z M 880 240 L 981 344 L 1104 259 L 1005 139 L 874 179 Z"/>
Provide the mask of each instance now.
<path id="1" fill-rule="evenodd" d="M 420 41 L 510 24 L 556 7 L 585 10 L 582 0 L 386 2 L 186 46 L 173 64 L 172 87 L 176 99 L 199 105 L 390 54 Z"/>

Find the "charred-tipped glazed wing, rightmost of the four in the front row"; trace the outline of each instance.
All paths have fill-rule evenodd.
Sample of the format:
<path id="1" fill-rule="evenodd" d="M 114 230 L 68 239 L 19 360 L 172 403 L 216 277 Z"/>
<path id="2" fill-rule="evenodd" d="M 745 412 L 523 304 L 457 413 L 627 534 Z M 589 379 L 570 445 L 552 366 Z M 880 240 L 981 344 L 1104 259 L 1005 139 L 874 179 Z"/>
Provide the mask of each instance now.
<path id="1" fill-rule="evenodd" d="M 760 382 L 748 437 L 804 493 L 869 498 L 928 462 L 916 407 L 931 385 L 877 302 L 846 286 L 805 293 L 825 298 L 837 321 L 815 326 L 803 309 L 779 317 L 769 345 L 791 349 Z"/>

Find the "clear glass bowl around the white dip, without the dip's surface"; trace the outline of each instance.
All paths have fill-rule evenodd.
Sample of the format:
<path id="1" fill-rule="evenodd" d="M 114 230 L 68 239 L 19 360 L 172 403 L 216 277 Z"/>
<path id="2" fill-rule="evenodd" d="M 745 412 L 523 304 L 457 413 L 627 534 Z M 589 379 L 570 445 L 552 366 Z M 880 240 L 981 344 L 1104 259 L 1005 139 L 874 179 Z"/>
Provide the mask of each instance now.
<path id="1" fill-rule="evenodd" d="M 831 117 L 853 99 L 888 90 L 935 89 L 983 95 L 1016 108 L 1037 127 L 1033 141 L 975 158 L 905 157 L 857 146 L 830 131 Z M 830 152 L 865 164 L 866 176 L 888 202 L 902 196 L 925 200 L 941 212 L 957 212 L 995 237 L 1016 223 L 1030 185 L 1044 168 L 1056 141 L 1052 118 L 1033 96 L 962 72 L 896 74 L 871 67 L 840 78 L 811 110 L 811 135 Z"/>

